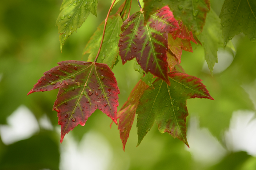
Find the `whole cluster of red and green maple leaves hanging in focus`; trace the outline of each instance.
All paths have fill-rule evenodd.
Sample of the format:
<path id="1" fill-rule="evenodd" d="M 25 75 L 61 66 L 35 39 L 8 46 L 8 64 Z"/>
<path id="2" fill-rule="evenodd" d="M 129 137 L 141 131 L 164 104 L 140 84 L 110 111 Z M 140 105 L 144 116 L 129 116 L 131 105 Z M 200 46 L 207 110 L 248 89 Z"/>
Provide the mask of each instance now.
<path id="1" fill-rule="evenodd" d="M 109 13 L 119 2 L 112 0 Z M 60 49 L 90 12 L 96 15 L 97 3 L 97 0 L 63 0 L 56 21 Z M 199 78 L 186 74 L 180 66 L 182 51 L 192 52 L 191 41 L 202 45 L 212 72 L 220 45 L 234 50 L 228 41 L 240 32 L 255 41 L 253 0 L 225 0 L 221 21 L 210 10 L 209 0 L 144 0 L 144 9 L 130 15 L 131 3 L 132 0 L 125 0 L 116 14 L 107 15 L 97 28 L 84 48 L 84 54 L 89 53 L 87 62 L 59 62 L 28 93 L 59 89 L 53 110 L 58 112 L 61 125 L 60 142 L 65 134 L 78 124 L 84 126 L 88 117 L 100 109 L 116 124 L 119 119 L 123 149 L 135 114 L 138 114 L 138 145 L 156 122 L 160 133 L 168 132 L 188 146 L 186 100 L 213 98 Z M 142 74 L 119 112 L 120 91 L 112 73 L 118 56 L 123 64 L 134 60 L 134 69 Z"/>

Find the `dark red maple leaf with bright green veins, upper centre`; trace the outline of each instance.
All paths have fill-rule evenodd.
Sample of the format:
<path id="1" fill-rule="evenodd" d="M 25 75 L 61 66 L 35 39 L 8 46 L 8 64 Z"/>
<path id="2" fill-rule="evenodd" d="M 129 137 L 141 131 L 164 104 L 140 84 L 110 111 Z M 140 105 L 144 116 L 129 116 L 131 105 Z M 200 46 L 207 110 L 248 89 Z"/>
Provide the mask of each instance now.
<path id="1" fill-rule="evenodd" d="M 144 26 L 142 12 L 136 12 L 124 21 L 121 27 L 119 40 L 119 54 L 123 64 L 136 58 L 141 68 L 146 72 L 168 80 L 168 35 L 179 29 L 172 12 L 166 6 L 156 14 L 151 15 L 149 22 Z"/>

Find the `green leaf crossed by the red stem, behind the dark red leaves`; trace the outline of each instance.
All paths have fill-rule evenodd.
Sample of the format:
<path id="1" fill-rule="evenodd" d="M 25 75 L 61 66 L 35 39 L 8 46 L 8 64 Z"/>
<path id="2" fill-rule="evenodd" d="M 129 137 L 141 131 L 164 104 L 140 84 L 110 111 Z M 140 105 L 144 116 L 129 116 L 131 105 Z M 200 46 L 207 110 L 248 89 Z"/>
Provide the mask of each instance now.
<path id="1" fill-rule="evenodd" d="M 93 62 L 98 50 L 100 48 L 100 42 L 103 35 L 105 20 L 100 24 L 97 30 L 92 35 L 90 41 L 84 48 L 84 54 L 90 53 L 88 62 Z M 119 50 L 118 41 L 120 35 L 120 27 L 122 26 L 123 20 L 119 14 L 111 15 L 108 18 L 104 40 L 100 50 L 100 55 L 97 58 L 97 62 L 107 64 L 111 69 L 113 68 Z"/>

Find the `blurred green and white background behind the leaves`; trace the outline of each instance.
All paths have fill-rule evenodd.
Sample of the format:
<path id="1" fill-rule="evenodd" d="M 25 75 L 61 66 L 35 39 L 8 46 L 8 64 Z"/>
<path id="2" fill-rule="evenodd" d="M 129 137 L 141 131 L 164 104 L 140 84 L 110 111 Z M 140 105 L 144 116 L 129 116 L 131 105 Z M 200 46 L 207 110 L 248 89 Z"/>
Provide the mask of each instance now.
<path id="1" fill-rule="evenodd" d="M 131 14 L 140 10 L 136 1 Z M 211 2 L 218 15 L 223 1 Z M 87 60 L 82 51 L 105 19 L 111 0 L 99 0 L 98 17 L 89 15 L 62 53 L 55 27 L 61 2 L 1 2 L 0 170 L 256 170 L 256 43 L 244 35 L 232 40 L 236 52 L 220 47 L 213 76 L 201 46 L 193 44 L 194 53 L 182 55 L 186 73 L 202 79 L 215 99 L 187 101 L 190 149 L 171 135 L 160 135 L 156 125 L 136 147 L 134 122 L 124 152 L 116 125 L 110 129 L 111 119 L 99 110 L 60 144 L 60 126 L 52 111 L 58 90 L 26 95 L 57 62 Z M 121 92 L 120 109 L 140 74 L 133 70 L 133 61 L 124 66 L 118 62 L 113 72 Z M 21 137 L 12 133 L 14 126 Z"/>

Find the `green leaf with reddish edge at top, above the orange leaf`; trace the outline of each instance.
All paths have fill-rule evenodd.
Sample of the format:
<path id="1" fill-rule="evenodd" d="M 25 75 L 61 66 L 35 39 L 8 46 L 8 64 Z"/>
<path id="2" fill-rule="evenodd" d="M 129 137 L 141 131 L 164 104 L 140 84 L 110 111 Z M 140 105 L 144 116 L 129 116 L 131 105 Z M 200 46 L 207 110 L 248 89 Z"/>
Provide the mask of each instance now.
<path id="1" fill-rule="evenodd" d="M 145 23 L 157 9 L 168 5 L 175 18 L 181 19 L 196 35 L 202 32 L 206 13 L 210 10 L 209 0 L 143 0 L 143 2 L 145 3 Z"/>

